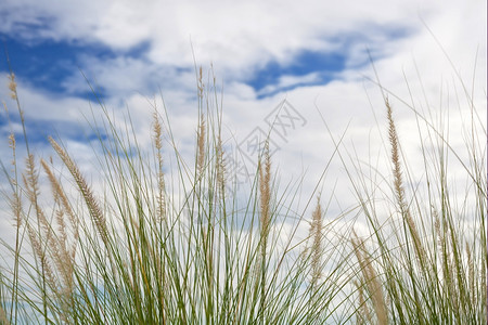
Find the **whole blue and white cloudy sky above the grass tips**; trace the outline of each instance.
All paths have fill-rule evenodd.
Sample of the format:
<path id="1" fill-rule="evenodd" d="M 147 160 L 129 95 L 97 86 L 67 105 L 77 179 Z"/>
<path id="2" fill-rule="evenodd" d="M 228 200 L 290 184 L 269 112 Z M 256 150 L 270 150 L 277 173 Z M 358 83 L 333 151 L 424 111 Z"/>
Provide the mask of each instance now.
<path id="1" fill-rule="evenodd" d="M 195 70 L 202 66 L 205 81 L 215 76 L 229 157 L 239 156 L 252 173 L 253 143 L 269 133 L 281 183 L 303 180 L 304 197 L 314 196 L 318 183 L 324 197 L 334 192 L 333 218 L 354 196 L 334 141 L 342 138 L 345 153 L 364 161 L 385 152 L 378 82 L 389 94 L 412 166 L 421 161 L 409 106 L 434 119 L 448 115 L 455 132 L 470 115 L 465 87 L 479 120 L 486 120 L 486 13 L 484 0 L 2 0 L 0 39 L 37 155 L 52 155 L 46 139 L 55 135 L 86 174 L 97 172 L 90 146 L 95 134 L 86 122 L 91 108 L 98 114 L 93 87 L 115 119 L 130 113 L 147 148 L 150 102 L 163 96 L 179 148 L 191 159 Z M 12 118 L 9 123 L 1 110 L 4 164 L 8 135 L 21 130 L 8 73 L 2 49 L 0 99 Z M 463 146 L 463 134 L 450 139 Z M 388 166 L 380 167 L 387 172 Z M 11 223 L 5 220 L 0 234 Z"/>

